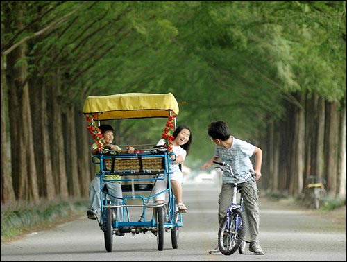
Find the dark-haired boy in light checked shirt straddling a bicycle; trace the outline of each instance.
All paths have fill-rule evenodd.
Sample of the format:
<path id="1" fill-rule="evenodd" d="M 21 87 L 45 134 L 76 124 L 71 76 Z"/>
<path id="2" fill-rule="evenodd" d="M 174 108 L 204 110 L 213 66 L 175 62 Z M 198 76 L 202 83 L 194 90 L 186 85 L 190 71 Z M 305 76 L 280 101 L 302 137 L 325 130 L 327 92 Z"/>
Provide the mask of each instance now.
<path id="1" fill-rule="evenodd" d="M 201 166 L 201 170 L 210 168 L 213 161 L 223 161 L 226 164 L 230 164 L 234 171 L 244 171 L 249 173 L 253 170 L 250 157 L 255 155 L 255 168 L 256 174 L 255 180 L 259 180 L 262 176 L 262 150 L 253 146 L 251 143 L 236 139 L 230 135 L 228 125 L 223 121 L 211 122 L 208 127 L 208 134 L 211 140 L 216 144 L 214 156 L 210 161 Z M 241 172 L 243 173 L 243 172 Z M 236 175 L 236 173 L 235 173 Z M 256 255 L 263 255 L 262 247 L 259 243 L 259 206 L 258 206 L 258 191 L 257 183 L 242 179 L 237 182 L 237 186 L 242 188 L 242 196 L 244 198 L 244 213 L 246 215 L 248 230 L 246 231 L 245 241 L 249 244 L 249 251 Z M 242 181 L 243 180 L 243 181 Z M 221 193 L 219 193 L 219 212 L 218 221 L 219 224 L 226 216 L 226 210 L 230 205 L 232 199 L 233 188 L 232 184 L 235 183 L 235 179 L 226 171 L 222 176 Z M 210 254 L 221 254 L 219 247 L 209 252 Z"/>

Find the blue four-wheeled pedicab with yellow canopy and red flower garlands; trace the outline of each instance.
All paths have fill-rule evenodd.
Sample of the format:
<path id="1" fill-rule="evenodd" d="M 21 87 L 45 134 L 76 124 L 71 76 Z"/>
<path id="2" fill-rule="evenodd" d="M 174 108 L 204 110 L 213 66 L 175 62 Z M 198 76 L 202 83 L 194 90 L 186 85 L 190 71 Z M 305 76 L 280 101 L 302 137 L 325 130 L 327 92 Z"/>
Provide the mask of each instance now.
<path id="1" fill-rule="evenodd" d="M 96 175 L 101 178 L 101 211 L 97 221 L 104 233 L 105 249 L 108 252 L 112 252 L 114 235 L 146 232 L 156 236 L 160 251 L 164 248 L 165 232 L 171 232 L 172 247 L 178 248 L 178 229 L 183 226 L 183 221 L 171 189 L 169 172 L 170 163 L 174 161 L 170 159 L 174 152 L 169 150 L 173 139 L 171 131 L 176 129 L 178 112 L 178 103 L 171 93 L 126 93 L 86 98 L 83 114 L 87 118 L 87 128 L 99 146 L 98 154 L 92 157 L 92 163 L 99 165 L 99 173 Z M 133 154 L 122 154 L 103 148 L 103 137 L 97 128 L 101 121 L 144 118 L 168 119 L 162 134 L 162 138 L 167 142 L 165 148 L 135 150 Z M 105 176 L 110 174 L 117 174 L 121 178 L 106 180 Z M 167 180 L 167 189 L 155 193 L 153 186 L 158 180 Z M 121 182 L 121 204 L 110 200 L 110 196 L 115 196 L 103 186 L 104 181 Z M 161 193 L 165 193 L 167 198 L 164 203 L 158 204 L 155 197 Z M 115 215 L 117 208 L 123 211 L 121 219 Z"/>

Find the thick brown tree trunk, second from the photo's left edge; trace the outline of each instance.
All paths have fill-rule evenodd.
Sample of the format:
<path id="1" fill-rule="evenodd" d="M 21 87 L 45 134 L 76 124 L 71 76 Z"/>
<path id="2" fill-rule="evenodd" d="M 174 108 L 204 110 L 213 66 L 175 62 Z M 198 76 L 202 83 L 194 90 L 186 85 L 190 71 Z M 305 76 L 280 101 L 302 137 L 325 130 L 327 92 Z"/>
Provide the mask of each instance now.
<path id="1" fill-rule="evenodd" d="M 21 5 L 21 2 L 16 2 Z M 15 23 L 19 30 L 22 26 L 23 11 L 17 10 Z M 12 175 L 15 193 L 19 200 L 38 200 L 37 172 L 35 166 L 31 109 L 29 103 L 26 64 L 15 67 L 18 60 L 24 60 L 25 48 L 20 45 L 7 56 L 9 112 L 11 130 Z"/>

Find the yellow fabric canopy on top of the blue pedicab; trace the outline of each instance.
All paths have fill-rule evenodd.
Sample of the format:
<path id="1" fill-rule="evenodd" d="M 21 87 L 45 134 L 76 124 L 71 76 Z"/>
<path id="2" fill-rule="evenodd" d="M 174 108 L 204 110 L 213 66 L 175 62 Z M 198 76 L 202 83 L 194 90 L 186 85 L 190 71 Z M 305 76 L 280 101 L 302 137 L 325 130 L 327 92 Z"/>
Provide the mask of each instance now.
<path id="1" fill-rule="evenodd" d="M 178 103 L 171 93 L 88 96 L 83 106 L 83 114 L 97 114 L 99 120 L 168 117 L 171 111 L 178 115 Z"/>

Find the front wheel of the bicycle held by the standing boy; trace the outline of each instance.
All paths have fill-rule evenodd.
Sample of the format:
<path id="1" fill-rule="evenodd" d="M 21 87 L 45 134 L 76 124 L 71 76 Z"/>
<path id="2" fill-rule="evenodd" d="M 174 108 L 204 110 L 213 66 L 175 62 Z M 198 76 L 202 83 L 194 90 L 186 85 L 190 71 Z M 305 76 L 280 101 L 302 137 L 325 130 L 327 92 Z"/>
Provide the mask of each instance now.
<path id="1" fill-rule="evenodd" d="M 224 255 L 234 254 L 244 241 L 246 218 L 240 209 L 232 209 L 229 222 L 225 216 L 219 225 L 218 247 Z"/>

